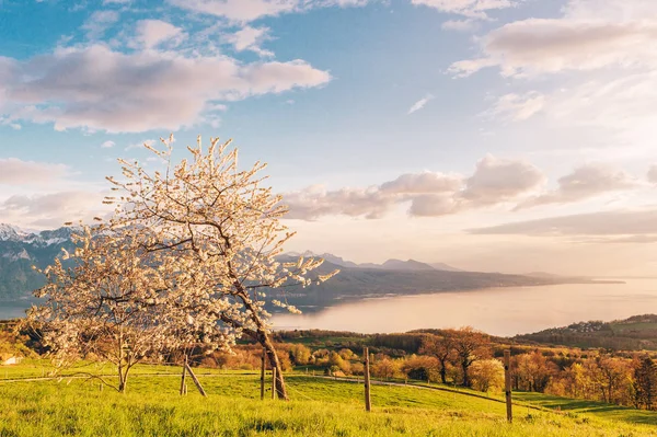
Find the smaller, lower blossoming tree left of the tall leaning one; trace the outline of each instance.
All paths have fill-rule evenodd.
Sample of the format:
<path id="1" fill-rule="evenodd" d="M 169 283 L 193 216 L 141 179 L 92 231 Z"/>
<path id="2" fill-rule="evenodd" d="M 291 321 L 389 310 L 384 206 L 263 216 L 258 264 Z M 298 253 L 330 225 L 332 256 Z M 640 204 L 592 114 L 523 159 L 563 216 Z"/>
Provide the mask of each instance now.
<path id="1" fill-rule="evenodd" d="M 185 280 L 180 267 L 145 253 L 135 230 L 83 227 L 72 239 L 74 253 L 65 251 L 42 271 L 46 285 L 35 296 L 45 302 L 30 310 L 27 322 L 42 331 L 58 369 L 87 356 L 107 360 L 116 366 L 118 384 L 101 379 L 124 392 L 136 364 L 188 341 L 174 323 L 184 317 L 183 323 L 193 325 L 188 314 L 162 304 L 177 300 L 174 284 Z M 230 342 L 219 330 L 205 337 L 221 346 Z"/>

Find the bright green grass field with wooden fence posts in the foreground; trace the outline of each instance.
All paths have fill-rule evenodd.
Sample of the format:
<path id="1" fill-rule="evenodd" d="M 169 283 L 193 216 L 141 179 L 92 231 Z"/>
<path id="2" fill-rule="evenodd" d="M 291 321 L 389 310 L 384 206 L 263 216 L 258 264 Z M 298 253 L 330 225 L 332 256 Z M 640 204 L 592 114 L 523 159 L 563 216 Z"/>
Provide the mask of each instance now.
<path id="1" fill-rule="evenodd" d="M 494 400 L 373 386 L 373 411 L 368 414 L 360 384 L 293 373 L 287 376 L 290 402 L 261 401 L 257 375 L 207 369 L 197 369 L 206 399 L 193 386 L 189 394 L 180 396 L 180 369 L 172 367 L 136 369 L 125 394 L 107 388 L 101 391 L 95 380 L 70 377 L 30 382 L 3 379 L 41 377 L 44 369 L 47 366 L 39 361 L 0 369 L 0 437 L 657 436 L 655 413 L 604 412 L 590 403 L 577 405 L 577 401 L 535 393 L 518 393 L 517 398 L 526 405 L 561 406 L 563 412 L 516 406 L 516 419 L 509 425 L 505 405 Z M 85 367 L 90 369 L 110 370 Z"/>

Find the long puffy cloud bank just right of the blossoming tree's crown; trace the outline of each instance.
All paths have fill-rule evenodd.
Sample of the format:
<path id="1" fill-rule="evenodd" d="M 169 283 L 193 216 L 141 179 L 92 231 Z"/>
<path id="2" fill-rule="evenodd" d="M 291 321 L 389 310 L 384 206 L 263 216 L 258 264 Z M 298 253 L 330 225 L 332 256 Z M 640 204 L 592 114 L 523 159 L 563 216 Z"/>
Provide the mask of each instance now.
<path id="1" fill-rule="evenodd" d="M 378 219 L 403 204 L 410 204 L 410 216 L 439 217 L 515 200 L 543 180 L 543 174 L 529 163 L 487 156 L 469 179 L 410 173 L 367 188 L 326 191 L 312 186 L 285 194 L 284 203 L 290 208 L 288 218 L 304 220 L 333 215 Z"/>

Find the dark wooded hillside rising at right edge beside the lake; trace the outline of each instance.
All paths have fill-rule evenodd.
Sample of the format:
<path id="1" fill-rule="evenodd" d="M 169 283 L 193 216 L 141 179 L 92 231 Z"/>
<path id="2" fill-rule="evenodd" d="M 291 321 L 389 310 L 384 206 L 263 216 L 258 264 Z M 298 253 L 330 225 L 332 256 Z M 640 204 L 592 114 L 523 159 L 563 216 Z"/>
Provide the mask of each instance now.
<path id="1" fill-rule="evenodd" d="M 657 350 L 657 315 L 634 315 L 612 322 L 589 321 L 541 332 L 517 335 L 514 340 L 613 350 Z"/>

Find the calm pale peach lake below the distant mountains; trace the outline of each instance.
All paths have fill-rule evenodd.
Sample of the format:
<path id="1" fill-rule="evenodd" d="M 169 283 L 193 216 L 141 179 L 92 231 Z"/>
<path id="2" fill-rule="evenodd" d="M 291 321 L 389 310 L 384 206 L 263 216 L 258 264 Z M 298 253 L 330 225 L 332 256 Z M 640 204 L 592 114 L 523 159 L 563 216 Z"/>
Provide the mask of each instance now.
<path id="1" fill-rule="evenodd" d="M 307 315 L 276 314 L 273 321 L 277 330 L 391 333 L 471 325 L 509 336 L 579 321 L 657 313 L 657 278 L 622 280 L 626 284 L 488 288 L 370 299 Z"/>

